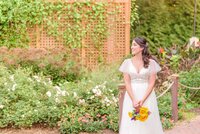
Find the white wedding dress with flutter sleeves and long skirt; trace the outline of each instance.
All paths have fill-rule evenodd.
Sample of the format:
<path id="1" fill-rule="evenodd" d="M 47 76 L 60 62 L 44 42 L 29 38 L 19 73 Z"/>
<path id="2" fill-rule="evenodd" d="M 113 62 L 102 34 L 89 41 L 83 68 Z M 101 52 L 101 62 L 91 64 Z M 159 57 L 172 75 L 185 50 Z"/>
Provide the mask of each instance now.
<path id="1" fill-rule="evenodd" d="M 147 90 L 150 74 L 157 73 L 161 68 L 155 60 L 150 59 L 148 68 L 143 67 L 137 72 L 131 59 L 126 59 L 119 70 L 130 75 L 134 97 L 141 100 Z M 133 110 L 133 104 L 128 93 L 125 93 L 119 134 L 164 134 L 154 90 L 143 106 L 148 107 L 151 112 L 148 119 L 145 122 L 131 120 L 128 112 Z"/>

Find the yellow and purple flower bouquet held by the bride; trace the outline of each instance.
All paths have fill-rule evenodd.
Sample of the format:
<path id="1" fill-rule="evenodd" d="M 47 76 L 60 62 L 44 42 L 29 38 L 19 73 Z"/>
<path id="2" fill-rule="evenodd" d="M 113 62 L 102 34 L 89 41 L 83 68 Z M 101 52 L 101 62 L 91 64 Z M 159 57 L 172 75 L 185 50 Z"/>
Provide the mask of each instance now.
<path id="1" fill-rule="evenodd" d="M 141 122 L 145 122 L 151 112 L 147 107 L 141 107 L 139 111 L 136 111 L 135 109 L 132 112 L 128 112 L 128 116 L 131 118 L 131 120 L 139 120 Z"/>

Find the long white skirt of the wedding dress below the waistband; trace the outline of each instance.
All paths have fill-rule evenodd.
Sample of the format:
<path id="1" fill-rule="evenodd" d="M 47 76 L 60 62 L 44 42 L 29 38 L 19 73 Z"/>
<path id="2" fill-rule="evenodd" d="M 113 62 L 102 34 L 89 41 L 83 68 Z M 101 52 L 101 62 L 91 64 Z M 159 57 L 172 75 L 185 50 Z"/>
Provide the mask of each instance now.
<path id="1" fill-rule="evenodd" d="M 148 82 L 132 81 L 131 87 L 134 97 L 139 101 L 146 93 Z M 143 106 L 147 107 L 151 112 L 148 119 L 145 122 L 131 120 L 128 112 L 131 112 L 134 108 L 128 93 L 125 93 L 119 134 L 164 134 L 154 90 Z"/>

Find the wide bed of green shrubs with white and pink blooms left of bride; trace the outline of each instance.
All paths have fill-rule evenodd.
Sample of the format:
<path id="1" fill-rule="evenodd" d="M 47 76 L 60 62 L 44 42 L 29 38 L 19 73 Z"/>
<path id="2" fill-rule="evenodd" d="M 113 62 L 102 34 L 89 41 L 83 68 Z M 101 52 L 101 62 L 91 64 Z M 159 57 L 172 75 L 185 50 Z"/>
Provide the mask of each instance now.
<path id="1" fill-rule="evenodd" d="M 59 126 L 61 133 L 118 130 L 117 79 L 91 74 L 78 83 L 53 85 L 42 74 L 31 74 L 28 68 L 10 71 L 0 65 L 1 128 L 40 123 Z"/>

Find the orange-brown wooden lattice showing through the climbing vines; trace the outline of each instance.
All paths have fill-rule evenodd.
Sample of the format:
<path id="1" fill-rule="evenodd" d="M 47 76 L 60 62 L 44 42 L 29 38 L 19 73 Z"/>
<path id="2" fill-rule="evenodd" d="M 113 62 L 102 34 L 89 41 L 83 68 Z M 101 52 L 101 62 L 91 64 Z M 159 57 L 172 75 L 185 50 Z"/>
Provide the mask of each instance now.
<path id="1" fill-rule="evenodd" d="M 70 1 L 73 2 L 73 1 Z M 82 39 L 85 44 L 79 53 L 82 59 L 82 64 L 88 68 L 94 69 L 98 66 L 98 57 L 102 54 L 106 63 L 113 63 L 121 60 L 130 51 L 130 0 L 113 0 L 108 7 L 108 11 L 119 10 L 120 13 L 109 15 L 107 17 L 109 36 L 103 41 L 104 46 L 101 52 L 95 47 L 88 35 Z M 119 8 L 119 9 L 116 9 Z M 61 19 L 62 24 L 70 23 L 70 20 L 65 22 Z M 91 24 L 91 25 L 95 25 Z M 61 27 L 59 32 L 64 31 Z M 36 48 L 54 48 L 63 47 L 63 39 L 56 39 L 47 34 L 44 26 L 35 26 L 28 29 L 30 36 L 30 46 Z"/>

